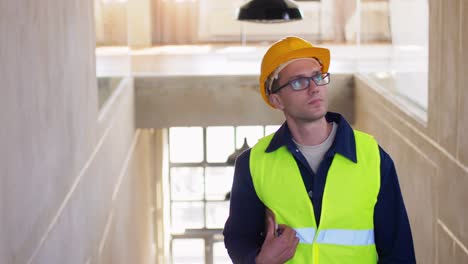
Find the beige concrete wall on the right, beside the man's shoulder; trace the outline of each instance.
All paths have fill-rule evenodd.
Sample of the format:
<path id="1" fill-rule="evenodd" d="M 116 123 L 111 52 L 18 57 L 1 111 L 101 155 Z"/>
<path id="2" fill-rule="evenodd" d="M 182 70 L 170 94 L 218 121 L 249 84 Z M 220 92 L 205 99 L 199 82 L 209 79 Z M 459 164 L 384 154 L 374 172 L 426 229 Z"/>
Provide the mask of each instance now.
<path id="1" fill-rule="evenodd" d="M 427 124 L 358 77 L 356 126 L 396 163 L 418 263 L 468 263 L 468 3 L 430 0 L 429 21 Z"/>

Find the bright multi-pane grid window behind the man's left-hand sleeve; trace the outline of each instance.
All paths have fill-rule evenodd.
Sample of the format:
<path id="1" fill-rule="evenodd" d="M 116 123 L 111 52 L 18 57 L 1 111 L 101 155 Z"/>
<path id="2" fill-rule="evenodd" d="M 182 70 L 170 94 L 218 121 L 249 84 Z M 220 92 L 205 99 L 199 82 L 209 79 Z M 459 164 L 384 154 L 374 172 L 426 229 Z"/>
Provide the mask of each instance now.
<path id="1" fill-rule="evenodd" d="M 231 263 L 222 228 L 229 215 L 234 168 L 227 159 L 279 126 L 169 129 L 171 254 L 174 264 Z"/>

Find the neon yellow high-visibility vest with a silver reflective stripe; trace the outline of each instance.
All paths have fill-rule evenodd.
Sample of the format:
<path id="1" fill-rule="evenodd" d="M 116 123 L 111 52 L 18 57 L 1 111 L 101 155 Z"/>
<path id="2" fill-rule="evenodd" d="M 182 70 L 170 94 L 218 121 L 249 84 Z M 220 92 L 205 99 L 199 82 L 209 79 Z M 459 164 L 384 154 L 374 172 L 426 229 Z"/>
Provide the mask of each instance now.
<path id="1" fill-rule="evenodd" d="M 380 153 L 376 140 L 354 131 L 357 163 L 339 153 L 328 170 L 320 225 L 299 167 L 286 146 L 266 153 L 273 135 L 252 148 L 250 172 L 260 200 L 276 222 L 296 230 L 300 239 L 287 263 L 377 263 L 374 206 L 380 189 Z"/>

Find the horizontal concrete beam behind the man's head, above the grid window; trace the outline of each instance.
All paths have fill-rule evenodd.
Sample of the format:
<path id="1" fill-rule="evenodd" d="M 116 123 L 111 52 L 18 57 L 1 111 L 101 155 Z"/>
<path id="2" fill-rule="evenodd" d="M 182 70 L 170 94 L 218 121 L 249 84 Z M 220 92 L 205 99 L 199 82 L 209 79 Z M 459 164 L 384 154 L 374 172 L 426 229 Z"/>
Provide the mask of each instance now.
<path id="1" fill-rule="evenodd" d="M 354 120 L 353 77 L 333 75 L 330 110 Z M 136 125 L 272 125 L 284 122 L 281 111 L 262 99 L 257 76 L 159 76 L 135 79 Z M 155 114 L 159 113 L 159 114 Z"/>

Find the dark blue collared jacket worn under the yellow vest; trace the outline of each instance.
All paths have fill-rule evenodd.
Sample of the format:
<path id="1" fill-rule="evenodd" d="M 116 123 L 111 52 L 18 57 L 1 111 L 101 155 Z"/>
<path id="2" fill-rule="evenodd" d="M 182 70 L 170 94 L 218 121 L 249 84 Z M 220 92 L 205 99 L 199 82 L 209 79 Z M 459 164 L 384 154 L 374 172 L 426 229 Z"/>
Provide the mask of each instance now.
<path id="1" fill-rule="evenodd" d="M 317 173 L 291 139 L 287 123 L 275 133 L 266 152 L 286 145 L 294 156 L 302 174 L 307 192 L 312 191 L 317 225 L 320 223 L 322 197 L 333 156 L 339 153 L 356 162 L 354 134 L 348 122 L 339 114 L 327 113 L 328 122 L 338 124 L 335 141 L 323 157 Z M 381 184 L 374 209 L 374 234 L 379 263 L 415 263 L 413 239 L 395 166 L 390 156 L 380 150 Z M 258 198 L 249 168 L 250 150 L 242 153 L 237 161 L 231 191 L 229 218 L 224 227 L 224 243 L 234 263 L 255 263 L 264 240 L 265 206 Z M 278 194 L 279 195 L 279 194 Z"/>

